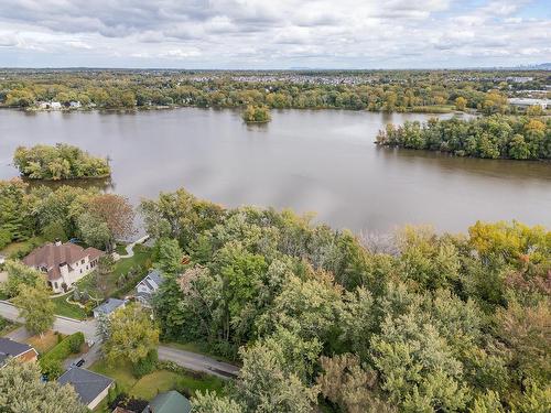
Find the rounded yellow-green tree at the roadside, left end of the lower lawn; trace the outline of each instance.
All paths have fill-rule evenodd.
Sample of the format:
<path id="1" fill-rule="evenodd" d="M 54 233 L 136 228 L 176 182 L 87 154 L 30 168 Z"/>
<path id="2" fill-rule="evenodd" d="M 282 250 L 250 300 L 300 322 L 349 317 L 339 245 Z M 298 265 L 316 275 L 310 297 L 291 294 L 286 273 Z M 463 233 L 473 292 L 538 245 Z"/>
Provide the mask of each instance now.
<path id="1" fill-rule="evenodd" d="M 159 345 L 159 329 L 136 304 L 118 309 L 111 316 L 109 329 L 104 351 L 111 365 L 125 360 L 136 365 Z"/>

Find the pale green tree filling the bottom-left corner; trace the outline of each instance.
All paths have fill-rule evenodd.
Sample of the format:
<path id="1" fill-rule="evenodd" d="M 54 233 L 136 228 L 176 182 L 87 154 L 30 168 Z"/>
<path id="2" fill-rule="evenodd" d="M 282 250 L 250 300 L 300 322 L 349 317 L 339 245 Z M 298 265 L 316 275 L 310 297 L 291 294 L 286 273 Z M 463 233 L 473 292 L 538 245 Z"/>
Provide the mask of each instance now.
<path id="1" fill-rule="evenodd" d="M 85 413 L 71 385 L 42 381 L 37 363 L 14 359 L 0 369 L 0 412 L 6 413 Z"/>

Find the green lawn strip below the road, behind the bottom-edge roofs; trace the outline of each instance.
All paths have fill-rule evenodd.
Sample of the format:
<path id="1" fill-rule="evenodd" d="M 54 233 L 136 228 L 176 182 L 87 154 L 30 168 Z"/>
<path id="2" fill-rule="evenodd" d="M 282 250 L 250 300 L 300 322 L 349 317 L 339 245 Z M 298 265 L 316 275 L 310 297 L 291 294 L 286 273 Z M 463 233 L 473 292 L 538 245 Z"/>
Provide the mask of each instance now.
<path id="1" fill-rule="evenodd" d="M 101 360 L 94 363 L 90 370 L 115 379 L 120 391 L 144 400 L 151 400 L 158 393 L 169 390 L 192 393 L 197 390 L 222 392 L 224 388 L 224 381 L 213 376 L 204 374 L 199 378 L 168 370 L 156 370 L 137 379 L 132 376 L 130 366 L 109 367 Z"/>

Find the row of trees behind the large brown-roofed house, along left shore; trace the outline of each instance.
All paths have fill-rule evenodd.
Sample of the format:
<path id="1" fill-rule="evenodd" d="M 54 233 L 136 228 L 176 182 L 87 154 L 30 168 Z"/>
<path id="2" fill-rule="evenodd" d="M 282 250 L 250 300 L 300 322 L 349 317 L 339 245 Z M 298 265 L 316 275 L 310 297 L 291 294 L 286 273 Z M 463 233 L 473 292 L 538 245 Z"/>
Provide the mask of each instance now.
<path id="1" fill-rule="evenodd" d="M 0 181 L 0 239 L 4 244 L 25 246 L 13 249 L 13 258 L 22 258 L 36 247 L 29 240 L 79 238 L 88 246 L 111 250 L 116 239 L 132 233 L 133 208 L 120 195 L 72 186 L 29 189 L 19 178 Z"/>

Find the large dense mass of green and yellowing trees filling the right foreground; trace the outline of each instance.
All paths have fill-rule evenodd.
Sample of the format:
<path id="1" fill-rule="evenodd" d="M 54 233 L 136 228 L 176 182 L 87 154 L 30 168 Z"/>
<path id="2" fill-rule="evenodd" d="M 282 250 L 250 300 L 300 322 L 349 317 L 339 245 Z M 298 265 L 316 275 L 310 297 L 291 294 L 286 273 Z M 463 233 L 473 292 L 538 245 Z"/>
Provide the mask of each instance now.
<path id="1" fill-rule="evenodd" d="M 141 205 L 168 276 L 161 338 L 240 360 L 198 412 L 543 412 L 551 232 L 476 222 L 395 237 L 224 209 L 181 189 Z M 182 258 L 184 257 L 184 259 Z"/>

